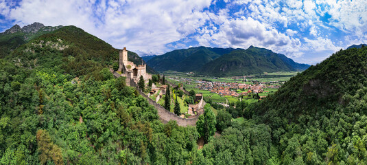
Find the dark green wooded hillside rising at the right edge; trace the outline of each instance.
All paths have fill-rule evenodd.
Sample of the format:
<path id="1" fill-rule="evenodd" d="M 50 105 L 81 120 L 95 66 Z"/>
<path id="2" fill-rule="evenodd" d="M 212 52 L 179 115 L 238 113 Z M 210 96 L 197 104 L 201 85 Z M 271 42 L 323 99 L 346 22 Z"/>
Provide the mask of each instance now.
<path id="1" fill-rule="evenodd" d="M 284 164 L 365 164 L 366 64 L 366 47 L 336 52 L 247 107 L 245 117 L 270 126 Z"/>

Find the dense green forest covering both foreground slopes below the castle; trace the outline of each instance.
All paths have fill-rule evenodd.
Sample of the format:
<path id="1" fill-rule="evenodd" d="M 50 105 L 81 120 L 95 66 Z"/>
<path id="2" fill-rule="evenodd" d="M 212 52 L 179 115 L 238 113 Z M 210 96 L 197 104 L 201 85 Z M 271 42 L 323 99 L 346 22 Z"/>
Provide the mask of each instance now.
<path id="1" fill-rule="evenodd" d="M 209 102 L 187 127 L 163 124 L 113 77 L 117 53 L 69 26 L 1 58 L 0 164 L 366 164 L 366 47 L 336 52 L 257 103 L 212 103 L 214 115 Z"/>

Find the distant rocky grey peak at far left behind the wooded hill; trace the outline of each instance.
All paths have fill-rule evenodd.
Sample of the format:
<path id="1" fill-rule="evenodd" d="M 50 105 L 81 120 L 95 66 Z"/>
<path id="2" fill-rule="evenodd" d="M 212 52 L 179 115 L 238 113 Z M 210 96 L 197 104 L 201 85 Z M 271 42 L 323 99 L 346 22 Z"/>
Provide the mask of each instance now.
<path id="1" fill-rule="evenodd" d="M 59 28 L 62 28 L 62 26 L 51 27 L 45 26 L 42 23 L 32 23 L 25 25 L 23 28 L 19 25 L 14 25 L 12 28 L 0 33 L 0 58 L 9 54 L 16 47 L 19 47 L 19 45 Z"/>

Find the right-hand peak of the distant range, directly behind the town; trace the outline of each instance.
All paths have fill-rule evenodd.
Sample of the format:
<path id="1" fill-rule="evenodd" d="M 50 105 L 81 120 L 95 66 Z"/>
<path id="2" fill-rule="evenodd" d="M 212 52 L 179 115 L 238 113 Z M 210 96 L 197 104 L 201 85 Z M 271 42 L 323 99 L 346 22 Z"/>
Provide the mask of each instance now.
<path id="1" fill-rule="evenodd" d="M 283 54 L 251 46 L 247 50 L 235 50 L 206 63 L 199 72 L 211 76 L 244 76 L 263 72 L 304 70 L 307 67 L 309 65 L 295 63 Z"/>

